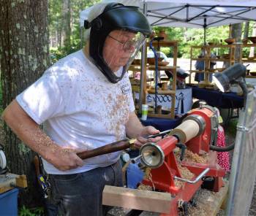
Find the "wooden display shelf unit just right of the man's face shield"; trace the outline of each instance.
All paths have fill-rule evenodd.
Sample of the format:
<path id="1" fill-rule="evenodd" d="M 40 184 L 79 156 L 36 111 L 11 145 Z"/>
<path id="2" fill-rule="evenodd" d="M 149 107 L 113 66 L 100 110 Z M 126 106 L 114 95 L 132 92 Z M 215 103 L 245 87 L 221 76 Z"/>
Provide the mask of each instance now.
<path id="1" fill-rule="evenodd" d="M 157 90 L 157 94 L 161 95 L 167 95 L 171 97 L 171 105 L 170 105 L 170 114 L 157 114 L 157 113 L 151 113 L 148 112 L 148 116 L 150 117 L 162 117 L 162 118 L 175 118 L 175 102 L 176 102 L 176 69 L 177 69 L 177 58 L 178 58 L 178 42 L 177 41 L 160 41 L 159 44 L 158 42 L 153 42 L 154 47 L 172 47 L 173 49 L 173 65 L 172 66 L 158 66 L 158 72 L 160 71 L 171 71 L 173 74 L 173 83 L 172 83 L 172 88 L 170 90 Z M 146 43 L 146 46 L 149 47 L 149 42 Z M 147 55 L 146 55 L 147 56 Z M 144 77 L 142 77 L 143 81 L 143 98 L 142 102 L 143 104 L 146 104 L 146 93 L 151 93 L 154 94 L 155 90 L 152 90 L 151 88 L 147 88 L 147 80 L 146 80 L 146 72 L 147 71 L 154 71 L 155 72 L 155 65 L 148 65 L 146 62 L 145 74 Z M 131 65 L 129 67 L 130 71 L 140 71 L 140 65 Z M 140 88 L 138 86 L 132 86 L 132 90 L 135 92 L 140 91 Z"/>

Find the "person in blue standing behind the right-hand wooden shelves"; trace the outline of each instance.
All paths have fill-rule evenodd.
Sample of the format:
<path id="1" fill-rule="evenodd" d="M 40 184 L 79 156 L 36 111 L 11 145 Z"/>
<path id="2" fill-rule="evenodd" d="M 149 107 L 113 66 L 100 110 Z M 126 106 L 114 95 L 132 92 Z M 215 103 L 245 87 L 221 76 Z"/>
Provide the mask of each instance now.
<path id="1" fill-rule="evenodd" d="M 203 58 L 207 55 L 207 51 L 202 48 L 200 55 L 198 58 Z M 211 58 L 217 58 L 214 53 L 211 53 Z M 214 69 L 214 65 L 216 64 L 215 61 L 210 62 L 210 69 Z M 205 71 L 205 61 L 197 60 L 195 62 L 195 69 L 198 71 Z M 200 82 L 204 80 L 204 73 L 195 73 L 195 81 Z M 209 74 L 209 81 L 212 82 L 212 73 Z"/>

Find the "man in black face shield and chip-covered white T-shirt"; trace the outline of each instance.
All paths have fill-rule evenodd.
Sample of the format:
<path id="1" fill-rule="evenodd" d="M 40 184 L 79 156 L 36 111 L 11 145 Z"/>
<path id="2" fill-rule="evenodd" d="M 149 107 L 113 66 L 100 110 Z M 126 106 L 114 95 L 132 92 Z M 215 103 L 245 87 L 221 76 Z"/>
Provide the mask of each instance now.
<path id="1" fill-rule="evenodd" d="M 86 47 L 62 58 L 4 110 L 12 131 L 43 158 L 59 215 L 102 215 L 105 185 L 121 186 L 120 153 L 81 160 L 76 153 L 144 135 L 135 115 L 129 63 L 151 34 L 137 7 L 97 4 L 85 21 Z M 43 131 L 39 125 L 43 123 Z"/>

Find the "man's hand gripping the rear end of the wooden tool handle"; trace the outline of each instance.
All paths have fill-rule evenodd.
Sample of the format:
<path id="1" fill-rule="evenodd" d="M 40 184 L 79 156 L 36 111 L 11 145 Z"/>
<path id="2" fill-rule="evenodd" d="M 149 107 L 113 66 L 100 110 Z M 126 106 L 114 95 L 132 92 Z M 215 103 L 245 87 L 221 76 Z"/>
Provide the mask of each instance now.
<path id="1" fill-rule="evenodd" d="M 56 169 L 67 171 L 83 166 L 83 160 L 76 153 L 78 150 L 55 146 L 48 150 L 45 160 L 53 164 Z"/>

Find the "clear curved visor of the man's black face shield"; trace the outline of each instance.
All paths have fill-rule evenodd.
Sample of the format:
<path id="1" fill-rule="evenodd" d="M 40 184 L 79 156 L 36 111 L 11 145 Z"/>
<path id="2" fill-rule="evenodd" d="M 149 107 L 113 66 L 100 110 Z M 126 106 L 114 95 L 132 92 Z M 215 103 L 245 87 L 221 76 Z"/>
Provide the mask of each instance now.
<path id="1" fill-rule="evenodd" d="M 127 30 L 115 30 L 108 34 L 102 54 L 108 67 L 116 76 L 121 75 L 116 72 L 122 67 L 127 71 L 145 39 L 146 37 L 140 32 Z"/>

